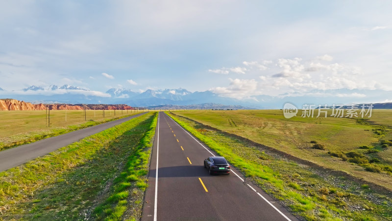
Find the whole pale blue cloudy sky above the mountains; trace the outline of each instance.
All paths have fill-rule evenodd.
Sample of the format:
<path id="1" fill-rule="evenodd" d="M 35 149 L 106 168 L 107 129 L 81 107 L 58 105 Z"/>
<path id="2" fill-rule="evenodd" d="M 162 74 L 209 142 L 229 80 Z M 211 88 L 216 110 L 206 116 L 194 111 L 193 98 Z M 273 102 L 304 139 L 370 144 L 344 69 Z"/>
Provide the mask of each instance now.
<path id="1" fill-rule="evenodd" d="M 238 99 L 391 91 L 391 11 L 391 1 L 4 0 L 0 87 L 182 87 Z"/>

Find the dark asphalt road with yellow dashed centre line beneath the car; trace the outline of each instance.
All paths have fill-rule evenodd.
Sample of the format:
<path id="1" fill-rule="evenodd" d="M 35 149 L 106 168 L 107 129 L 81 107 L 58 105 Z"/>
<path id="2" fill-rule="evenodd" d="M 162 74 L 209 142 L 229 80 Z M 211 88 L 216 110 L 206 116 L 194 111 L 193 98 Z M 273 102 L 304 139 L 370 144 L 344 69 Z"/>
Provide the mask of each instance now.
<path id="1" fill-rule="evenodd" d="M 230 175 L 209 175 L 203 161 L 212 155 L 217 154 L 160 112 L 142 221 L 297 220 L 261 189 L 246 184 L 236 169 Z"/>

